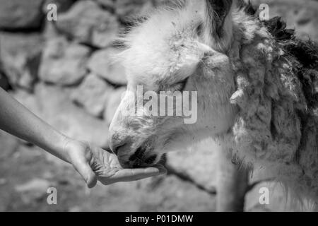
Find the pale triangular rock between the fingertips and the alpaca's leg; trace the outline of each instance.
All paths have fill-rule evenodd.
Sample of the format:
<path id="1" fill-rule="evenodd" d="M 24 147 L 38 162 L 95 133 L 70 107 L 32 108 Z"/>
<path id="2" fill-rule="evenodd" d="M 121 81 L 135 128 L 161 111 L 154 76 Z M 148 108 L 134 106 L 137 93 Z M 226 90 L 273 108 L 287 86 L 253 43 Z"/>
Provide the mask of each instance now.
<path id="1" fill-rule="evenodd" d="M 217 144 L 202 141 L 193 150 L 181 150 L 167 154 L 167 165 L 177 174 L 188 177 L 206 191 L 215 192 L 217 185 Z"/>

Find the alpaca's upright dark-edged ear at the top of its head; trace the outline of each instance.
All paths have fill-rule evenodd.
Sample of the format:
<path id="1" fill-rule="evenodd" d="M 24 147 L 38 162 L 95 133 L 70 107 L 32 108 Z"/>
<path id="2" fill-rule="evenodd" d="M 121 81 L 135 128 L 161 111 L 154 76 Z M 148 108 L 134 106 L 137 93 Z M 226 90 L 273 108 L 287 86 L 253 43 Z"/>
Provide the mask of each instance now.
<path id="1" fill-rule="evenodd" d="M 225 52 L 232 39 L 232 0 L 205 0 L 205 40 Z"/>

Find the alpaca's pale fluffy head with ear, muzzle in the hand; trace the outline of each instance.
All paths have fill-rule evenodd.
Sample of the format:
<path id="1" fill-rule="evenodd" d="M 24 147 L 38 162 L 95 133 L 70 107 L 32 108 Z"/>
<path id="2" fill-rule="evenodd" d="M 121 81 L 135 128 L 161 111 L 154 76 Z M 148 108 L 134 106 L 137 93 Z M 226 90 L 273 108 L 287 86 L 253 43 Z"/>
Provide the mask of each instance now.
<path id="1" fill-rule="evenodd" d="M 123 167 L 155 165 L 163 153 L 233 124 L 234 76 L 225 54 L 232 1 L 180 2 L 124 37 L 118 57 L 128 86 L 110 126 L 110 147 Z"/>

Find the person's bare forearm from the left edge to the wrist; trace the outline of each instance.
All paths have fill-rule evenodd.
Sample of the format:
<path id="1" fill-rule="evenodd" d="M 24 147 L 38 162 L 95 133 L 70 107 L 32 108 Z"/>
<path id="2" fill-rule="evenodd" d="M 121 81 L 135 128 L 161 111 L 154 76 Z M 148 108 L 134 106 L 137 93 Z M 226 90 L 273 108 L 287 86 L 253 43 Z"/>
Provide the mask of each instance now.
<path id="1" fill-rule="evenodd" d="M 69 162 L 66 136 L 49 126 L 0 88 L 0 129 Z"/>

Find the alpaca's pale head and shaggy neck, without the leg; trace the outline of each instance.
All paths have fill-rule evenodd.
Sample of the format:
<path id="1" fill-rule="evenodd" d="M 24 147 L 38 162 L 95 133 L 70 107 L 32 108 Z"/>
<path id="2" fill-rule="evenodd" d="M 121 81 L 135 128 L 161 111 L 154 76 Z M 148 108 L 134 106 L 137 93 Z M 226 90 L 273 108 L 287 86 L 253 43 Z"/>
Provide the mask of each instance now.
<path id="1" fill-rule="evenodd" d="M 216 138 L 240 165 L 318 201 L 318 48 L 280 18 L 261 22 L 256 14 L 240 0 L 177 1 L 122 37 L 117 58 L 129 92 L 110 147 L 123 167 L 155 165 L 163 153 Z M 198 120 L 124 114 L 136 105 L 137 85 L 196 91 Z"/>

